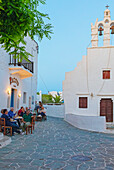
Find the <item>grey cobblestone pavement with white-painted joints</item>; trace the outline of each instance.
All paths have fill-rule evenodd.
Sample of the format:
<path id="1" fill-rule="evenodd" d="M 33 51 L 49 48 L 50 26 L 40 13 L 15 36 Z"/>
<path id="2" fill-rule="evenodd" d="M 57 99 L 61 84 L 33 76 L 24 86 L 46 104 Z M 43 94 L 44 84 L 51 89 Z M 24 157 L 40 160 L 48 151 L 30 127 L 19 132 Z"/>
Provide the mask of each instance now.
<path id="1" fill-rule="evenodd" d="M 32 135 L 16 135 L 0 149 L 0 170 L 114 170 L 114 135 L 79 130 L 59 118 L 35 126 Z"/>

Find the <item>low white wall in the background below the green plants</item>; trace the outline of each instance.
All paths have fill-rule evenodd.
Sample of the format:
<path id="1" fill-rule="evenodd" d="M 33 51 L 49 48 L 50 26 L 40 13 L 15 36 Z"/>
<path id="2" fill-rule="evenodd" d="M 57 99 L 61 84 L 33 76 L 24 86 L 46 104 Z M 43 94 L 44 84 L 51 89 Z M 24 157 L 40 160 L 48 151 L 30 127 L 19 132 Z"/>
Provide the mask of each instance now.
<path id="1" fill-rule="evenodd" d="M 46 115 L 58 118 L 64 118 L 64 105 L 44 105 Z"/>

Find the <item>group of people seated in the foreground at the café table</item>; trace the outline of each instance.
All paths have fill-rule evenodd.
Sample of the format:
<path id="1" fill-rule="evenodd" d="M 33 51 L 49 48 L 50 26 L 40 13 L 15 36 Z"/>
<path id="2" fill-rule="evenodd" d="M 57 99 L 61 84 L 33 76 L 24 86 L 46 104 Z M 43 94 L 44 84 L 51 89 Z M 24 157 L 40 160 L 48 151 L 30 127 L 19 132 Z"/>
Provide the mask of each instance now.
<path id="1" fill-rule="evenodd" d="M 9 112 L 7 109 L 2 109 L 0 117 L 5 118 L 6 126 L 12 127 L 12 135 L 14 135 L 15 132 L 18 134 L 25 134 L 26 127 L 30 125 L 32 121 L 32 114 L 27 107 L 26 110 L 24 107 L 21 107 L 18 113 L 14 113 L 13 107 L 10 108 Z"/>

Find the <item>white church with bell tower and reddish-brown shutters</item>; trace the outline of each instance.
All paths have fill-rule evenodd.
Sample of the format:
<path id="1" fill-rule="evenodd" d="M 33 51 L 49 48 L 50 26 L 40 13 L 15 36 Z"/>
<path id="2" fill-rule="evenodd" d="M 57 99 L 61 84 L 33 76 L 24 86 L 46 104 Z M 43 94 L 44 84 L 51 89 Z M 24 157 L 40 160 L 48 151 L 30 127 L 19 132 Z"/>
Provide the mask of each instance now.
<path id="1" fill-rule="evenodd" d="M 63 95 L 65 120 L 85 130 L 105 132 L 114 124 L 114 20 L 110 10 L 104 11 L 103 21 L 91 24 L 91 44 L 87 56 L 77 67 L 65 74 Z M 99 46 L 99 37 L 103 46 Z"/>

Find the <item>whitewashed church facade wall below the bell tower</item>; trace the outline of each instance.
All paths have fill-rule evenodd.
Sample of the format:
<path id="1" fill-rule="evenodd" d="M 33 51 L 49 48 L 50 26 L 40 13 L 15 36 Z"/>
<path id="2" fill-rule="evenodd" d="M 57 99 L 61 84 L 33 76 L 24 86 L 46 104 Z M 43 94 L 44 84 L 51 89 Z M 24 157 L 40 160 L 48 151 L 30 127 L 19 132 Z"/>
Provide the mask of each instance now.
<path id="1" fill-rule="evenodd" d="M 65 113 L 99 116 L 100 100 L 102 98 L 112 98 L 114 100 L 113 56 L 114 46 L 89 48 L 87 56 L 82 58 L 82 61 L 78 63 L 74 71 L 66 73 L 65 81 L 63 82 Z M 103 80 L 102 71 L 107 68 L 108 61 L 108 68 L 111 70 L 111 79 Z M 88 69 L 86 67 L 87 63 Z M 93 97 L 91 93 L 93 93 Z M 88 97 L 87 109 L 79 108 L 79 97 Z"/>

